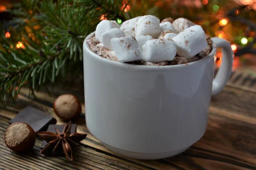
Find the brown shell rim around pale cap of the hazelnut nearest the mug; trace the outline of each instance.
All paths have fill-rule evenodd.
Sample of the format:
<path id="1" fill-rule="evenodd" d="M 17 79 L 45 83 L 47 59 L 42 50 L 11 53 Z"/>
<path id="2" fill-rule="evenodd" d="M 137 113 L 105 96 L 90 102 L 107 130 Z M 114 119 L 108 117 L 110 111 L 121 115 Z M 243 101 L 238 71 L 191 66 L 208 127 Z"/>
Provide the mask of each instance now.
<path id="1" fill-rule="evenodd" d="M 56 108 L 56 101 L 57 101 L 61 96 L 63 96 L 63 95 L 70 95 L 70 96 L 72 96 L 72 97 L 75 99 L 75 101 L 76 101 L 76 103 L 77 103 L 77 105 L 78 105 L 76 111 L 72 114 L 72 116 L 64 117 L 64 116 L 61 116 L 61 114 L 58 113 L 58 110 L 57 110 L 57 108 Z M 54 112 L 56 113 L 56 115 L 57 115 L 58 117 L 60 117 L 62 120 L 65 120 L 65 121 L 74 119 L 74 118 L 76 118 L 77 116 L 79 116 L 79 114 L 80 114 L 81 111 L 82 111 L 81 103 L 79 102 L 79 99 L 78 99 L 76 96 L 72 95 L 72 94 L 62 94 L 61 96 L 58 96 L 57 99 L 55 99 L 55 102 L 53 103 L 53 110 L 54 110 Z M 67 101 L 67 102 L 69 102 L 69 101 Z"/>

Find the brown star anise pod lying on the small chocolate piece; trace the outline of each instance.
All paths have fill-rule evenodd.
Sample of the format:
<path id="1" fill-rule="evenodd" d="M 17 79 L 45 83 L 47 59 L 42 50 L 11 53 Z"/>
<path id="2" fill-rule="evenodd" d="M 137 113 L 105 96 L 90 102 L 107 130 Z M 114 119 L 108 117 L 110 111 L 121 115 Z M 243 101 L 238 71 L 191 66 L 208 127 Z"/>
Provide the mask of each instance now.
<path id="1" fill-rule="evenodd" d="M 73 161 L 71 147 L 79 145 L 78 142 L 83 140 L 87 134 L 73 133 L 70 134 L 71 121 L 64 127 L 62 133 L 55 128 L 56 133 L 52 132 L 36 132 L 37 136 L 48 144 L 40 151 L 44 155 L 54 155 L 58 149 L 61 149 L 68 160 Z"/>

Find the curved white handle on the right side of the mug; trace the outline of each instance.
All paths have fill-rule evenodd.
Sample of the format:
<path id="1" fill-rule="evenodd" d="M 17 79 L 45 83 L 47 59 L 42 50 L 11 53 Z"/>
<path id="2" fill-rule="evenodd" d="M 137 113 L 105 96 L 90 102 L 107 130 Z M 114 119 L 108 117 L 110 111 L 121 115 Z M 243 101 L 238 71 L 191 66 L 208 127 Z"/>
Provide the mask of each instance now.
<path id="1" fill-rule="evenodd" d="M 231 45 L 227 40 L 213 37 L 212 43 L 216 44 L 216 48 L 221 47 L 222 51 L 221 67 L 212 82 L 212 95 L 215 95 L 221 92 L 230 77 L 234 54 Z"/>

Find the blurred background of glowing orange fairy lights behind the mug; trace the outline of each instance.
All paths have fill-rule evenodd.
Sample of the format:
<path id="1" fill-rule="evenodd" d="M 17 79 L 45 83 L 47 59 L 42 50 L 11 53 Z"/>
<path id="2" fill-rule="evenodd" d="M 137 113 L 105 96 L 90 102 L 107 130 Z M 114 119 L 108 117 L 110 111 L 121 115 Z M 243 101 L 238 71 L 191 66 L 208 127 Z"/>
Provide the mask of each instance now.
<path id="1" fill-rule="evenodd" d="M 13 15 L 8 9 L 12 8 L 14 2 L 18 0 L 0 1 L 2 22 L 12 19 Z M 235 56 L 239 57 L 235 59 L 234 67 L 249 60 L 248 67 L 256 71 L 256 0 L 123 0 L 120 10 L 124 10 L 125 18 L 118 20 L 119 23 L 144 14 L 153 14 L 160 19 L 188 18 L 203 26 L 212 37 L 230 41 Z M 108 18 L 108 15 L 100 15 L 99 20 L 116 19 L 113 16 Z M 9 37 L 8 31 L 6 37 Z M 221 59 L 220 52 L 218 58 Z"/>

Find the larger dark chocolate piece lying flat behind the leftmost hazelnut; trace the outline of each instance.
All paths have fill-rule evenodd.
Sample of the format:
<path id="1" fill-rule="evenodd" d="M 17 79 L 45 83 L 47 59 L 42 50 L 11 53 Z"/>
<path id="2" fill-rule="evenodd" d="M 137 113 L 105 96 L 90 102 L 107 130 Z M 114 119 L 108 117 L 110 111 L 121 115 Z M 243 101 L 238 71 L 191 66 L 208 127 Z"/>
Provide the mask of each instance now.
<path id="1" fill-rule="evenodd" d="M 12 124 L 14 122 L 25 122 L 36 132 L 47 130 L 49 124 L 55 124 L 57 121 L 51 115 L 39 111 L 31 106 L 27 106 L 20 111 L 17 116 L 11 119 L 9 123 Z"/>

